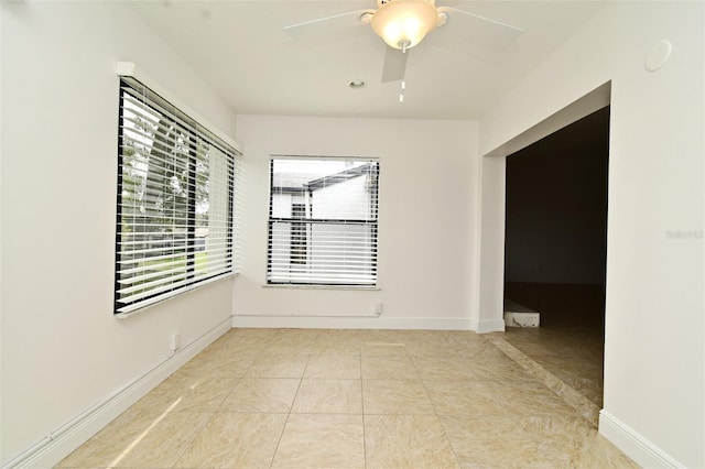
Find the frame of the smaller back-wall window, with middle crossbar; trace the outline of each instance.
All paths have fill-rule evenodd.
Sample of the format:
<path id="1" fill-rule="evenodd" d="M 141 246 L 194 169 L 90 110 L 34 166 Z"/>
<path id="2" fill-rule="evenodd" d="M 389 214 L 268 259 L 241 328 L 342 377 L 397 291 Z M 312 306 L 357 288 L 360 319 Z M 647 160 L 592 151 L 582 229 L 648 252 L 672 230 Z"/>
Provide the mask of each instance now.
<path id="1" fill-rule="evenodd" d="M 303 212 L 305 214 L 306 219 L 300 219 L 296 217 L 273 217 L 273 199 L 274 199 L 274 161 L 339 161 L 339 162 L 356 162 L 356 163 L 367 163 L 373 171 L 370 174 L 373 174 L 375 186 L 373 189 L 370 190 L 370 200 L 369 200 L 369 211 L 370 211 L 370 220 L 350 220 L 346 218 L 325 218 L 325 219 L 316 219 L 313 217 L 313 208 L 312 206 L 305 206 Z M 380 159 L 379 157 L 365 157 L 365 156 L 304 156 L 304 155 L 270 155 L 268 162 L 268 173 L 269 173 L 269 205 L 268 205 L 268 246 L 267 246 L 267 270 L 265 270 L 265 279 L 264 286 L 268 287 L 297 287 L 297 288 L 338 288 L 338 290 L 379 290 L 379 181 L 380 181 Z M 330 174 L 330 176 L 336 176 L 336 174 Z M 328 177 L 328 176 L 326 176 Z M 281 195 L 281 193 L 279 193 Z M 292 210 L 296 205 L 301 205 L 301 201 L 291 203 Z M 296 265 L 301 265 L 300 262 L 294 261 L 294 257 L 291 254 L 294 246 L 293 234 L 296 227 L 304 226 L 305 228 L 297 228 L 299 232 L 305 232 L 306 239 L 302 242 L 306 249 L 306 257 L 312 257 L 312 252 L 316 249 L 315 243 L 312 238 L 312 232 L 314 226 L 316 225 L 325 225 L 325 223 L 345 223 L 345 225 L 358 225 L 369 227 L 370 233 L 370 242 L 369 242 L 369 263 L 370 263 L 370 272 L 372 274 L 372 282 L 336 282 L 336 281 L 327 281 L 327 282 L 313 282 L 305 280 L 275 280 L 273 279 L 273 223 L 275 222 L 289 222 L 291 223 L 291 233 L 290 233 L 290 249 L 289 249 L 289 259 L 290 266 L 294 268 Z M 280 254 L 280 255 L 283 255 Z M 290 271 L 291 274 L 291 271 Z"/>

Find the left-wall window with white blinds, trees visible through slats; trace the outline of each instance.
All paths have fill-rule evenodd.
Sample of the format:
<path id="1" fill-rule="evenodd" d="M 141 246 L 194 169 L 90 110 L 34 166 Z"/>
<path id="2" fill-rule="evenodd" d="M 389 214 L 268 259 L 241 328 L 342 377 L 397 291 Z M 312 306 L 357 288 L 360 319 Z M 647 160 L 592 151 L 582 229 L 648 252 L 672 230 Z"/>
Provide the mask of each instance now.
<path id="1" fill-rule="evenodd" d="M 237 150 L 120 80 L 115 313 L 234 272 Z"/>

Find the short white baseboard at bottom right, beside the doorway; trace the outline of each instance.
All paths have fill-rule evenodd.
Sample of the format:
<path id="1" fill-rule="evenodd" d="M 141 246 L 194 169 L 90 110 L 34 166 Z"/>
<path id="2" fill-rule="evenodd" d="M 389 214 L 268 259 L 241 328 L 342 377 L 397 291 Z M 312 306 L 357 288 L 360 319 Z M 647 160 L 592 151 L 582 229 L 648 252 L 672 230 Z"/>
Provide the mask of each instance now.
<path id="1" fill-rule="evenodd" d="M 643 468 L 685 468 L 609 412 L 599 412 L 599 434 Z"/>

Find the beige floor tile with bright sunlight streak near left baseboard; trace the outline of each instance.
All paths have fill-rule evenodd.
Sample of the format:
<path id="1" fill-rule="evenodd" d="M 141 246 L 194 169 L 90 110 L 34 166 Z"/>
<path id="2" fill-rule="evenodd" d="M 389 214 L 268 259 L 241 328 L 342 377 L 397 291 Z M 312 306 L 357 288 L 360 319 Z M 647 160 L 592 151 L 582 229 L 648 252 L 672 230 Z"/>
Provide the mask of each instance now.
<path id="1" fill-rule="evenodd" d="M 202 432 L 213 414 L 128 411 L 117 425 L 98 433 L 64 459 L 64 468 L 169 468 Z"/>

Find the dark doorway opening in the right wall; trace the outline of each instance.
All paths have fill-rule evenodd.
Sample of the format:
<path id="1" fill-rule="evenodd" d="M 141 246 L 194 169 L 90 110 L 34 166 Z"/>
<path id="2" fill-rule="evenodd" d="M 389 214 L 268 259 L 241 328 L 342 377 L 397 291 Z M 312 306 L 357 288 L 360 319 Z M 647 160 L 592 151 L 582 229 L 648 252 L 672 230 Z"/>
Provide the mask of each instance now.
<path id="1" fill-rule="evenodd" d="M 540 315 L 538 328 L 507 327 L 506 340 L 598 408 L 608 160 L 609 106 L 506 162 L 506 304 Z"/>

